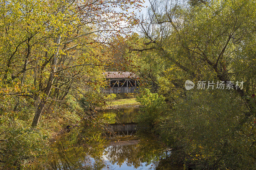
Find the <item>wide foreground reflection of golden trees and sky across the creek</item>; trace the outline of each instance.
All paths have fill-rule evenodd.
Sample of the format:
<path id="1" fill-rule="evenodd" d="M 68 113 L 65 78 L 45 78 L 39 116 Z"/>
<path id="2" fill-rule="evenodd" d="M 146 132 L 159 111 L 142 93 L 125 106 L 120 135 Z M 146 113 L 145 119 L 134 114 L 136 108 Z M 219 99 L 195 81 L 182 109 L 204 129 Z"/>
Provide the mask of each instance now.
<path id="1" fill-rule="evenodd" d="M 131 137 L 129 141 L 132 141 Z M 135 144 L 113 141 L 108 146 L 67 145 L 59 141 L 48 155 L 46 169 L 155 169 L 159 159 L 165 158 L 165 148 L 153 138 L 145 137 Z M 126 145 L 128 144 L 128 145 Z M 34 166 L 39 169 L 40 166 Z"/>

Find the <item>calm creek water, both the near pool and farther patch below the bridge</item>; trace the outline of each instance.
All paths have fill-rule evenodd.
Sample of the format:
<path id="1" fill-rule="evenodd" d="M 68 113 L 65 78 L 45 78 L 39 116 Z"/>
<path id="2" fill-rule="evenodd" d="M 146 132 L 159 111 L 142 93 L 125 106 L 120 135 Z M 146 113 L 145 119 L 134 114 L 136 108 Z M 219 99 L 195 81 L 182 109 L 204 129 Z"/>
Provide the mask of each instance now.
<path id="1" fill-rule="evenodd" d="M 138 108 L 121 108 L 118 110 L 104 110 L 105 118 L 110 123 L 133 122 Z M 114 116 L 115 115 L 115 116 Z M 133 169 L 161 169 L 157 167 L 168 156 L 167 148 L 157 142 L 151 135 L 132 135 L 100 142 L 90 146 L 68 142 L 70 134 L 62 137 L 52 145 L 52 153 L 33 169 L 75 169 L 75 170 L 133 170 Z M 40 161 L 39 161 L 40 162 Z M 170 166 L 168 169 L 182 169 L 180 166 Z"/>

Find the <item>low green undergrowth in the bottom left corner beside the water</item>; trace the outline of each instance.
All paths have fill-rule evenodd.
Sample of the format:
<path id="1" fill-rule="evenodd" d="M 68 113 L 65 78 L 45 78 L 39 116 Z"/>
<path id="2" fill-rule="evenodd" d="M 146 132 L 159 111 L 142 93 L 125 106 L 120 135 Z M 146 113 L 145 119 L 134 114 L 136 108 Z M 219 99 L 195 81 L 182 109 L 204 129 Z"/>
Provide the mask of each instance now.
<path id="1" fill-rule="evenodd" d="M 31 129 L 26 121 L 8 117 L 1 119 L 1 122 L 5 122 L 0 127 L 3 132 L 0 145 L 1 168 L 19 168 L 37 155 L 48 153 L 49 148 L 45 144 L 49 133 L 46 129 Z"/>

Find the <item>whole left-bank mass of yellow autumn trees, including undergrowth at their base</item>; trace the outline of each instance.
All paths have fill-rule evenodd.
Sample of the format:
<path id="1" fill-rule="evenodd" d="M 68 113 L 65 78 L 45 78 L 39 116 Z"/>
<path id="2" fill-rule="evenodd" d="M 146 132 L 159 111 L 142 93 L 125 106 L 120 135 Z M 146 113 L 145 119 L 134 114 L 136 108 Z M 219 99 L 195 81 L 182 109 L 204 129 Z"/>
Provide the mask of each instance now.
<path id="1" fill-rule="evenodd" d="M 28 0 L 0 6 L 0 153 L 6 155 L 2 161 L 17 165 L 29 155 L 29 147 L 39 147 L 27 138 L 34 133 L 31 126 L 38 128 L 43 119 L 38 129 L 46 129 L 49 122 L 59 122 L 57 117 L 77 122 L 104 104 L 101 73 L 112 63 L 106 51 L 113 37 L 137 24 L 128 10 L 141 4 Z M 24 144 L 19 140 L 33 146 L 20 150 Z"/>

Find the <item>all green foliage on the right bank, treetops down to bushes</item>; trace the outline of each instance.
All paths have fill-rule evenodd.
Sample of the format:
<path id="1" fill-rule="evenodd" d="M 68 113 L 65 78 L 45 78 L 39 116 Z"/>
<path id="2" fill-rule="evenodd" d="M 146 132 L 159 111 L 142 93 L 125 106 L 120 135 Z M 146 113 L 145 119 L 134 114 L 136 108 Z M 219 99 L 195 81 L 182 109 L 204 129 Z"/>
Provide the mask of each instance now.
<path id="1" fill-rule="evenodd" d="M 152 4 L 141 25 L 145 37 L 131 51 L 140 55 L 134 61 L 149 77 L 146 86 L 154 85 L 165 97 L 164 108 L 172 109 L 160 110 L 164 116 L 143 109 L 140 120 L 154 122 L 152 130 L 165 143 L 186 153 L 187 169 L 255 169 L 255 2 Z M 188 79 L 244 86 L 187 91 Z M 150 99 L 140 98 L 150 106 L 144 101 Z"/>

